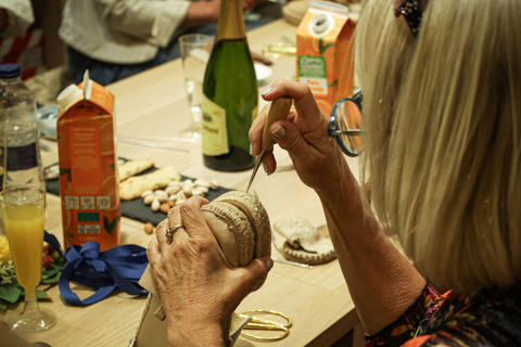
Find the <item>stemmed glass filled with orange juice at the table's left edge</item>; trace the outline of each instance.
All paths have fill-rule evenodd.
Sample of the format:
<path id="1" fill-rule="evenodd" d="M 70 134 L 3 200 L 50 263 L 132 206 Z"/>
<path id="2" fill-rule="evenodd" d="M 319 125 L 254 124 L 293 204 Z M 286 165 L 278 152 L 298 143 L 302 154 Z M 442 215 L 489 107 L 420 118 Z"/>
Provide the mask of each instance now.
<path id="1" fill-rule="evenodd" d="M 0 192 L 0 206 L 16 281 L 25 290 L 24 305 L 8 316 L 15 331 L 39 331 L 56 323 L 54 312 L 38 307 L 41 281 L 46 194 L 37 188 L 13 187 Z"/>

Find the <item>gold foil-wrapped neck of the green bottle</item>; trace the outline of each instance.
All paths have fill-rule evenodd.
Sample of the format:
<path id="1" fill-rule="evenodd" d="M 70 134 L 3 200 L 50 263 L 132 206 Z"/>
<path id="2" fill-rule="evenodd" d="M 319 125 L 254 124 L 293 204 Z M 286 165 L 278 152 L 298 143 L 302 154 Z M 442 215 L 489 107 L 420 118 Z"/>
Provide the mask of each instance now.
<path id="1" fill-rule="evenodd" d="M 242 0 L 221 0 L 215 42 L 244 39 L 245 37 L 246 27 L 242 13 Z"/>

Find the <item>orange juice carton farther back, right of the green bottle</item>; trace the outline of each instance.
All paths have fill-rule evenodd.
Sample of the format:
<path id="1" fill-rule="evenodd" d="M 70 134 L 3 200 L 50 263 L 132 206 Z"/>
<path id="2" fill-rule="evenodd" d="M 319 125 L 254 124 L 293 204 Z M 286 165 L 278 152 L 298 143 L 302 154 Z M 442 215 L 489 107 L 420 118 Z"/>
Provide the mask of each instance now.
<path id="1" fill-rule="evenodd" d="M 347 7 L 310 1 L 296 31 L 296 79 L 309 86 L 327 117 L 353 93 L 354 30 Z"/>

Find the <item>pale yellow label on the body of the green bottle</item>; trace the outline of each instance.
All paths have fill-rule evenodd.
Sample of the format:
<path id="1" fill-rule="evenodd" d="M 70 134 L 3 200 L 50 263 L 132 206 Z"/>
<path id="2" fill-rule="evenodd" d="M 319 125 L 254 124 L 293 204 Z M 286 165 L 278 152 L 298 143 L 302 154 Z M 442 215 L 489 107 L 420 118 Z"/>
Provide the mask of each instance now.
<path id="1" fill-rule="evenodd" d="M 217 156 L 228 154 L 228 131 L 226 129 L 226 110 L 203 94 L 202 142 L 203 154 Z"/>

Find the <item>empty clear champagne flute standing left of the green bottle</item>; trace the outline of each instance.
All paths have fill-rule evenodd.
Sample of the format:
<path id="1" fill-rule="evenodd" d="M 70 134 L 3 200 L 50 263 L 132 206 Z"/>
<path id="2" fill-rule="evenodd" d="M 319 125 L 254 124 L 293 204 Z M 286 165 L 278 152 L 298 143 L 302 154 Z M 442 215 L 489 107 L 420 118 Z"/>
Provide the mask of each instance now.
<path id="1" fill-rule="evenodd" d="M 213 37 L 204 34 L 187 34 L 179 38 L 182 70 L 188 104 L 192 112 L 190 126 L 179 132 L 181 138 L 201 137 L 201 100 L 206 63 L 212 51 Z"/>

